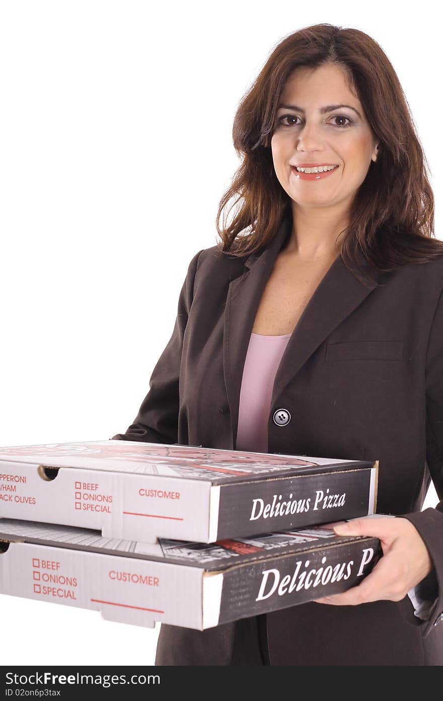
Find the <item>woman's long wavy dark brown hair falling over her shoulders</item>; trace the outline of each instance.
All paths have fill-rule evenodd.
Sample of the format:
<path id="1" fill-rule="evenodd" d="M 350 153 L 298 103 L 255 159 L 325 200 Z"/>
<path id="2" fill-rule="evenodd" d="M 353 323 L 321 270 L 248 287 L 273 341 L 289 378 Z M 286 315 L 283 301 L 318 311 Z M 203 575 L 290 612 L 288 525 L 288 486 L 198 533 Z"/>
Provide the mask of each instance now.
<path id="1" fill-rule="evenodd" d="M 218 207 L 218 250 L 245 256 L 267 245 L 276 233 L 290 208 L 290 197 L 272 161 L 279 99 L 295 69 L 327 63 L 342 68 L 346 85 L 357 93 L 379 140 L 377 161 L 371 161 L 353 198 L 351 223 L 341 232 L 345 233 L 344 264 L 364 281 L 356 248 L 371 266 L 384 272 L 442 256 L 443 241 L 433 238 L 435 203 L 428 161 L 398 76 L 384 50 L 368 34 L 329 24 L 286 36 L 239 102 L 232 139 L 241 165 Z M 228 225 L 224 216 L 220 228 L 218 222 L 231 198 L 230 210 L 239 203 L 237 211 Z"/>

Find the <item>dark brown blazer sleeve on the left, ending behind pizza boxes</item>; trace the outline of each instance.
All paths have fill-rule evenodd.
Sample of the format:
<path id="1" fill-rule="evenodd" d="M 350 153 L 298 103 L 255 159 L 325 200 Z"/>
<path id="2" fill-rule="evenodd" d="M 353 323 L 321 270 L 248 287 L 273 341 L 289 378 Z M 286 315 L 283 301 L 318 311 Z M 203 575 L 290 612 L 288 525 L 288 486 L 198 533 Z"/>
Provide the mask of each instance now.
<path id="1" fill-rule="evenodd" d="M 199 256 L 203 250 L 195 254 L 188 266 L 188 273 L 178 298 L 174 331 L 150 376 L 149 391 L 141 403 L 139 413 L 125 433 L 116 433 L 110 440 L 138 440 L 168 444 L 174 444 L 178 440 L 178 409 L 180 404 L 178 381 L 183 336 L 194 297 L 194 280 Z"/>

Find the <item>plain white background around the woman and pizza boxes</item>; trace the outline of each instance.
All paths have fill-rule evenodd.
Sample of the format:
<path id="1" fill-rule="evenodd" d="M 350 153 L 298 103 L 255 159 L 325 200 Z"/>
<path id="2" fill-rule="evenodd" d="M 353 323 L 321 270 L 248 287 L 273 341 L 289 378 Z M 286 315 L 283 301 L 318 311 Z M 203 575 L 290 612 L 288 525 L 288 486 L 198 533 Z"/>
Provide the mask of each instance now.
<path id="1" fill-rule="evenodd" d="M 0 4 L 0 445 L 106 440 L 132 423 L 190 259 L 218 242 L 237 104 L 287 34 L 328 22 L 381 45 L 442 191 L 437 9 L 311 7 Z M 0 606 L 3 665 L 153 664 L 159 625 L 15 597 Z"/>

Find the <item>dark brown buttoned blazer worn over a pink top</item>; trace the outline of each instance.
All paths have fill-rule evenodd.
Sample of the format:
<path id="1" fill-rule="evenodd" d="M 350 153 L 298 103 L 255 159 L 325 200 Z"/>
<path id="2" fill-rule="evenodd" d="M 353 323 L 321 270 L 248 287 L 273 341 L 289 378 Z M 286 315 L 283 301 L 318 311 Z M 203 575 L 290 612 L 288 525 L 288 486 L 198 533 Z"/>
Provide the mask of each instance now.
<path id="1" fill-rule="evenodd" d="M 288 208 L 255 254 L 195 254 L 148 394 L 114 439 L 235 449 L 255 313 L 291 229 Z M 379 460 L 377 512 L 409 519 L 435 564 L 430 618 L 405 597 L 312 602 L 203 632 L 162 625 L 157 665 L 253 665 L 262 655 L 272 665 L 443 664 L 443 259 L 367 270 L 369 287 L 339 257 L 311 297 L 276 373 L 268 451 Z M 282 408 L 285 426 L 273 418 Z M 431 477 L 442 501 L 421 512 Z"/>

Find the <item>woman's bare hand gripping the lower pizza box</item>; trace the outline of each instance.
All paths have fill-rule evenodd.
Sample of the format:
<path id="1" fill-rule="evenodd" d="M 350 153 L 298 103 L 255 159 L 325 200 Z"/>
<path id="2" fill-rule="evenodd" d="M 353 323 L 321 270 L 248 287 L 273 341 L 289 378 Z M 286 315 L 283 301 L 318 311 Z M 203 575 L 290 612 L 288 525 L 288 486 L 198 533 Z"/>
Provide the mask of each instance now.
<path id="1" fill-rule="evenodd" d="M 356 606 L 379 599 L 400 601 L 433 569 L 423 538 L 407 519 L 365 517 L 333 525 L 337 536 L 379 538 L 383 557 L 362 583 L 342 594 L 315 599 L 318 604 Z"/>

